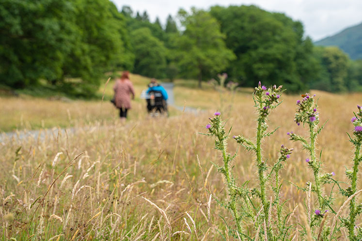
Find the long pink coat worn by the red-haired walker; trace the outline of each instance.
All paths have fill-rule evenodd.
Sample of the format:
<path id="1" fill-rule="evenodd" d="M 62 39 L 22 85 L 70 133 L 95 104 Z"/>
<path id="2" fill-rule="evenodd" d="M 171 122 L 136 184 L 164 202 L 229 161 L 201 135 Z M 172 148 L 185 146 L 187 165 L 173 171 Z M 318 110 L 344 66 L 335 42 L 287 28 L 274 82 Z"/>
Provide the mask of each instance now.
<path id="1" fill-rule="evenodd" d="M 130 94 L 132 94 L 132 99 L 135 96 L 135 90 L 133 89 L 131 81 L 129 79 L 117 79 L 116 83 L 114 84 L 113 90 L 117 108 L 130 109 Z"/>

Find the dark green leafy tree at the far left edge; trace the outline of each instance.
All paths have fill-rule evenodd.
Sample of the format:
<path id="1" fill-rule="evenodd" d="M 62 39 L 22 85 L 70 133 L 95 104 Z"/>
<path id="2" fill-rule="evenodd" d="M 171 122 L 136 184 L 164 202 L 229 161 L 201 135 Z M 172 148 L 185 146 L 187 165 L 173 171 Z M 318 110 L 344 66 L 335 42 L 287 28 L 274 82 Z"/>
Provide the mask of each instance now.
<path id="1" fill-rule="evenodd" d="M 76 34 L 74 13 L 66 0 L 2 0 L 0 82 L 24 88 L 61 76 Z"/>

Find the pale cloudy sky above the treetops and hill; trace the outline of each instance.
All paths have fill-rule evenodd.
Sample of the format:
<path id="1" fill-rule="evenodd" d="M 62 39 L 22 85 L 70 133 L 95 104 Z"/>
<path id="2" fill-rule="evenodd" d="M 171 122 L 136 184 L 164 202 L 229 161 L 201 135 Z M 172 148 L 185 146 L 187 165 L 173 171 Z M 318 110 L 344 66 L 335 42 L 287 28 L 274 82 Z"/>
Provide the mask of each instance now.
<path id="1" fill-rule="evenodd" d="M 304 25 L 306 35 L 313 41 L 331 36 L 362 22 L 362 0 L 112 0 L 118 9 L 128 5 L 134 12 L 147 11 L 150 20 L 158 16 L 164 24 L 169 14 L 175 16 L 178 9 L 208 9 L 210 6 L 250 5 L 284 13 Z"/>

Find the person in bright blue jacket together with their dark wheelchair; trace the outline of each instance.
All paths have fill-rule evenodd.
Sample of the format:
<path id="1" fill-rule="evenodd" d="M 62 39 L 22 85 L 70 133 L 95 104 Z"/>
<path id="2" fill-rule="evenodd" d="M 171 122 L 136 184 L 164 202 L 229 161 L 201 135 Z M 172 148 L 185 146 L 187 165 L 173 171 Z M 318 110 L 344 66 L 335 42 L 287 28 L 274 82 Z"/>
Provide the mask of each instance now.
<path id="1" fill-rule="evenodd" d="M 154 107 L 156 107 L 156 111 L 158 112 L 167 112 L 167 102 L 168 99 L 167 91 L 163 86 L 159 85 L 157 83 L 157 80 L 155 78 L 151 79 L 151 83 L 148 85 L 148 90 L 146 91 L 147 94 L 154 94 L 153 97 L 155 98 L 155 105 L 152 106 L 150 103 L 150 100 L 147 102 L 147 110 L 148 112 L 151 112 Z M 162 95 L 162 98 L 157 97 L 158 94 Z"/>

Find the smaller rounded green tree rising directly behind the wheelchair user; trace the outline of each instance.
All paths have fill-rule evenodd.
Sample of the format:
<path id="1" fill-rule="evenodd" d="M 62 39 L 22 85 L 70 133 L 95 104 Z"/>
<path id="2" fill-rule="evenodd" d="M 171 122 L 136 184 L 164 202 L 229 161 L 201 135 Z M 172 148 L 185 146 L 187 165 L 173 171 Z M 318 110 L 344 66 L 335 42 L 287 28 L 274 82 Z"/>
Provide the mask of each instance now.
<path id="1" fill-rule="evenodd" d="M 166 48 L 151 30 L 141 28 L 131 32 L 135 54 L 134 73 L 163 78 L 166 68 Z"/>

